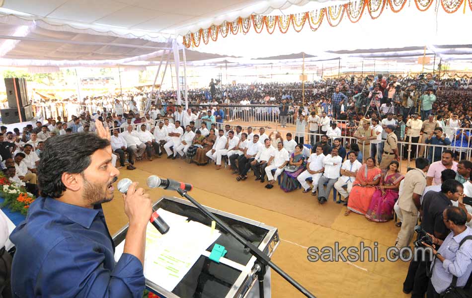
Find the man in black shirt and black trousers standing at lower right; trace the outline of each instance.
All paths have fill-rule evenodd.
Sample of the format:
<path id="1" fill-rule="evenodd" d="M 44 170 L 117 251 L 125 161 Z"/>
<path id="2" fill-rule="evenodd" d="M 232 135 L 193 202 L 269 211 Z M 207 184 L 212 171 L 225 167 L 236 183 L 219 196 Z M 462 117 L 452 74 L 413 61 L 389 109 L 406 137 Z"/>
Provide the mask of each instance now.
<path id="1" fill-rule="evenodd" d="M 448 179 L 443 181 L 440 192 L 429 191 L 424 195 L 421 203 L 422 220 L 416 241 L 414 241 L 415 247 L 424 247 L 423 242 L 432 244 L 432 237 L 429 235 L 434 236 L 435 239 L 444 240 L 446 238 L 449 230 L 443 221 L 443 212 L 452 206 L 451 201 L 458 201 L 462 198 L 463 192 L 462 183 Z M 412 298 L 422 298 L 428 289 L 426 268 L 431 266 L 432 256 L 428 255 L 428 251 L 420 249 L 415 250 L 415 253 L 416 258 L 411 260 L 403 283 L 403 292 L 409 294 L 413 291 Z"/>

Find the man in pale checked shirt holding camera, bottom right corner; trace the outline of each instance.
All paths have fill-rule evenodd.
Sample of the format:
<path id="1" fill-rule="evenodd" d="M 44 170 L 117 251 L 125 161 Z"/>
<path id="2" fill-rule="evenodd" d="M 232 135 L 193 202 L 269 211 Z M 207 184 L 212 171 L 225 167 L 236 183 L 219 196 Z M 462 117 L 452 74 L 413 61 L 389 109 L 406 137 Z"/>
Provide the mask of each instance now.
<path id="1" fill-rule="evenodd" d="M 453 276 L 457 278 L 456 287 L 468 284 L 472 273 L 472 229 L 466 226 L 467 213 L 459 207 L 447 207 L 442 221 L 451 232 L 444 240 L 430 235 L 432 253 L 436 257 L 431 268 L 427 297 L 439 298 L 451 285 Z M 436 250 L 437 246 L 439 249 Z"/>

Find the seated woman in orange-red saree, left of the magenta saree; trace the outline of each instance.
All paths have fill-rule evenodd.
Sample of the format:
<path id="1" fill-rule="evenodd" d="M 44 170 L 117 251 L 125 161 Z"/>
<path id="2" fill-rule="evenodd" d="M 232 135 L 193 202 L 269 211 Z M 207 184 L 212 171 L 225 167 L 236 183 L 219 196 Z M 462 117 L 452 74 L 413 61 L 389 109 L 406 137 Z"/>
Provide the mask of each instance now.
<path id="1" fill-rule="evenodd" d="M 381 169 L 375 166 L 375 159 L 369 157 L 362 165 L 354 180 L 349 199 L 347 201 L 347 211 L 344 215 L 349 215 L 351 211 L 365 215 L 376 191 L 376 186 L 380 182 Z"/>

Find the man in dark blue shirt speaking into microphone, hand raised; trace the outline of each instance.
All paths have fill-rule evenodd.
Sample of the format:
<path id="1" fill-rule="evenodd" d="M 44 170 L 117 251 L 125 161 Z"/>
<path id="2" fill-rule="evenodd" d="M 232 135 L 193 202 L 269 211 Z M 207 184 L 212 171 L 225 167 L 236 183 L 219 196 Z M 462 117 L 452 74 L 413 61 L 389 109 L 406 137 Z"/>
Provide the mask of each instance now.
<path id="1" fill-rule="evenodd" d="M 149 195 L 133 183 L 123 195 L 129 219 L 124 253 L 115 247 L 101 204 L 113 199 L 119 171 L 111 164 L 110 133 L 48 139 L 38 166 L 41 197 L 10 235 L 16 245 L 13 297 L 142 297 Z"/>

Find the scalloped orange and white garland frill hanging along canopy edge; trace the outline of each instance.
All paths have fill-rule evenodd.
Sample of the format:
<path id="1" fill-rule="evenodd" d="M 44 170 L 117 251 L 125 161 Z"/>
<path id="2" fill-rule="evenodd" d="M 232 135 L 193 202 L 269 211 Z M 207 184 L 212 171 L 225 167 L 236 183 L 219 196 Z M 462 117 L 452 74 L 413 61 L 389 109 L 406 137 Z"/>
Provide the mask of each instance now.
<path id="1" fill-rule="evenodd" d="M 232 22 L 223 22 L 221 25 L 211 25 L 207 29 L 200 29 L 195 33 L 189 33 L 183 36 L 183 44 L 185 47 L 198 47 L 203 39 L 204 44 L 208 44 L 211 40 L 217 41 L 219 36 L 223 38 L 228 36 L 228 33 L 237 34 L 241 32 L 246 34 L 249 32 L 251 26 L 256 33 L 261 33 L 266 28 L 269 34 L 274 33 L 276 28 L 281 33 L 287 33 L 290 26 L 296 32 L 302 31 L 305 24 L 308 22 L 310 29 L 316 31 L 326 18 L 331 27 L 336 27 L 341 23 L 344 14 L 352 23 L 358 22 L 364 15 L 365 9 L 372 19 L 378 18 L 385 8 L 389 8 L 397 13 L 403 7 L 407 0 L 354 0 L 349 3 L 328 6 L 317 10 L 302 12 L 289 15 L 251 15 L 246 18 L 237 18 Z M 420 11 L 428 10 L 434 0 L 413 0 L 416 8 Z M 472 0 L 436 0 L 441 2 L 441 7 L 447 13 L 455 13 L 459 10 L 461 5 L 464 5 L 463 12 L 466 12 L 466 7 L 472 10 Z M 436 6 L 436 5 L 434 5 Z"/>

